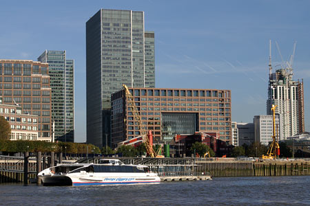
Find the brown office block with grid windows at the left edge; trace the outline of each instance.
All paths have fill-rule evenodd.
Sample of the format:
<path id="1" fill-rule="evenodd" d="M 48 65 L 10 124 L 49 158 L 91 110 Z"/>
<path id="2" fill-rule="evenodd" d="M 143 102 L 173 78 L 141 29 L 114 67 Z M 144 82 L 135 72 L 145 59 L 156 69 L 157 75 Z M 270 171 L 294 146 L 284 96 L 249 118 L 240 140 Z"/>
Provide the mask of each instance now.
<path id="1" fill-rule="evenodd" d="M 48 64 L 32 60 L 0 60 L 2 104 L 18 105 L 24 114 L 37 115 L 38 140 L 52 141 L 51 91 Z M 22 118 L 22 123 L 25 121 L 33 123 L 31 118 Z"/>

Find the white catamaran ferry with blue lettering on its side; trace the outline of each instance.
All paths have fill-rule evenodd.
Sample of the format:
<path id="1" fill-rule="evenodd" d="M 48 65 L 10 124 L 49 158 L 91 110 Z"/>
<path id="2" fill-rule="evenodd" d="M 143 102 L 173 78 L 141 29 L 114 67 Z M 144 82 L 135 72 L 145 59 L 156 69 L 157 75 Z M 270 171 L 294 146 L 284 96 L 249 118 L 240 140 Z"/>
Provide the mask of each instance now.
<path id="1" fill-rule="evenodd" d="M 145 165 L 125 165 L 118 159 L 98 163 L 61 164 L 38 174 L 43 185 L 120 185 L 159 183 L 161 179 Z"/>

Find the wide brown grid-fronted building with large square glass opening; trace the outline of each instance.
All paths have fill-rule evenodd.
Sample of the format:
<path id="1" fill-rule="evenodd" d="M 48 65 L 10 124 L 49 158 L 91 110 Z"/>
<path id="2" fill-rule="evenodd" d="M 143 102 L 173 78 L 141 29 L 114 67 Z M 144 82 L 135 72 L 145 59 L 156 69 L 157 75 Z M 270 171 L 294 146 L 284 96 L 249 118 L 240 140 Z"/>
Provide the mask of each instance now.
<path id="1" fill-rule="evenodd" d="M 172 139 L 176 134 L 217 133 L 231 139 L 231 91 L 217 89 L 132 88 L 134 102 L 146 130 L 154 141 Z M 141 135 L 125 90 L 112 94 L 112 146 Z"/>

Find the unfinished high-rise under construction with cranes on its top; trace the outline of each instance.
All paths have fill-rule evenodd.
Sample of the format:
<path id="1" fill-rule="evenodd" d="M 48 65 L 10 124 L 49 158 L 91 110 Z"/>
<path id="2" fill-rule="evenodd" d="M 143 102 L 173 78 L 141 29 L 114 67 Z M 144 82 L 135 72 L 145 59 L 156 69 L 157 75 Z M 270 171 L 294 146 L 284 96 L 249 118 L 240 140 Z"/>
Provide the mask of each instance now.
<path id="1" fill-rule="evenodd" d="M 272 115 L 273 104 L 276 114 L 280 114 L 284 139 L 304 132 L 303 82 L 293 80 L 292 69 L 278 69 L 269 74 L 267 115 Z"/>

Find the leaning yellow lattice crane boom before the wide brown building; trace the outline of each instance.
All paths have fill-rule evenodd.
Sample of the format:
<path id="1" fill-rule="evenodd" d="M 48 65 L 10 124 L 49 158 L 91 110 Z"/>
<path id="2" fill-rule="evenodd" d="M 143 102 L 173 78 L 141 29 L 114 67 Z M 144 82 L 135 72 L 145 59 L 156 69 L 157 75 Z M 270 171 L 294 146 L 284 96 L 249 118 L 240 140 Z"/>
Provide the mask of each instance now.
<path id="1" fill-rule="evenodd" d="M 125 89 L 126 98 L 127 98 L 127 105 L 132 111 L 132 115 L 134 115 L 134 122 L 136 126 L 138 126 L 140 135 L 143 136 L 143 142 L 145 142 L 145 147 L 147 149 L 147 154 L 151 157 L 156 157 L 157 152 L 154 151 L 152 144 L 149 141 L 149 138 L 147 137 L 147 130 L 143 126 L 141 115 L 138 112 L 138 109 L 136 108 L 136 104 L 134 102 L 134 97 L 132 96 L 132 93 L 130 93 L 130 90 L 128 87 L 123 84 L 123 87 Z M 151 133 L 152 135 L 152 133 Z"/>

